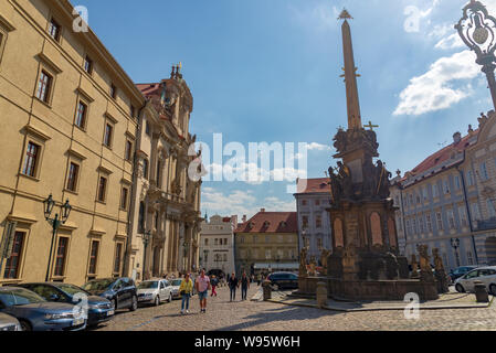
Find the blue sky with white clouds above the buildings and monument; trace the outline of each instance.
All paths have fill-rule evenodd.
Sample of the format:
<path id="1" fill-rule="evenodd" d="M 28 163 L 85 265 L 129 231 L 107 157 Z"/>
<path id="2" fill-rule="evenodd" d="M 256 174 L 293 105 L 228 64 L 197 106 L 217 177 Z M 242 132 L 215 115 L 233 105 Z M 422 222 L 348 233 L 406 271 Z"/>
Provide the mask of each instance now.
<path id="1" fill-rule="evenodd" d="M 467 0 L 73 0 L 136 83 L 182 62 L 191 132 L 212 143 L 307 142 L 308 176 L 335 164 L 345 126 L 340 22 L 350 21 L 362 120 L 388 169 L 408 171 L 492 108 L 475 54 L 453 28 Z M 484 1 L 496 13 L 496 0 Z M 412 22 L 413 20 L 413 22 Z M 444 143 L 444 145 L 443 145 Z M 247 158 L 247 157 L 246 157 Z M 225 158 L 226 161 L 229 158 Z M 271 165 L 274 168 L 274 165 Z M 295 165 L 297 168 L 297 164 Z M 287 182 L 204 182 L 202 212 L 295 211 Z"/>

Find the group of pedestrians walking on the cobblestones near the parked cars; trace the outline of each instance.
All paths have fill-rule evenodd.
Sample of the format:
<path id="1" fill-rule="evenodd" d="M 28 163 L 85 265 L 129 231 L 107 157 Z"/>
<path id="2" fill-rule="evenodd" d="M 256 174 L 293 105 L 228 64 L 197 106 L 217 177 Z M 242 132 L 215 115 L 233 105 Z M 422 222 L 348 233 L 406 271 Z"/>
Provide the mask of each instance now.
<path id="1" fill-rule="evenodd" d="M 231 274 L 231 276 L 228 279 L 228 286 L 230 289 L 230 302 L 235 300 L 236 297 L 236 289 L 241 287 L 241 300 L 246 300 L 247 290 L 250 289 L 250 282 L 253 280 L 253 278 L 250 278 L 245 271 L 243 271 L 243 275 L 240 279 L 235 276 L 235 274 Z M 219 286 L 220 280 L 212 276 L 212 278 L 209 278 L 209 276 L 205 275 L 205 270 L 202 269 L 200 271 L 200 275 L 196 278 L 194 285 L 193 280 L 191 279 L 190 274 L 186 274 L 181 285 L 179 286 L 179 292 L 181 295 L 182 301 L 181 301 L 181 314 L 189 313 L 189 303 L 190 298 L 193 293 L 193 286 L 194 289 L 198 292 L 198 298 L 200 300 L 200 313 L 207 312 L 207 298 L 209 296 L 209 290 L 211 290 L 210 297 L 217 297 L 217 287 Z"/>

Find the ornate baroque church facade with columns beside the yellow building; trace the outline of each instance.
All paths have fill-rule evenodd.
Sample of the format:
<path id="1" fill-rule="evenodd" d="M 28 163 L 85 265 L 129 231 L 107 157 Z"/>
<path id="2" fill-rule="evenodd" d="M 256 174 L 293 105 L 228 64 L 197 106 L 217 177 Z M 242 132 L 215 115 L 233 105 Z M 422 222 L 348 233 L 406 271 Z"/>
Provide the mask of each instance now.
<path id="1" fill-rule="evenodd" d="M 138 280 L 198 270 L 201 180 L 188 169 L 193 109 L 180 66 L 160 83 L 138 84 L 147 103 L 139 115 L 127 275 Z"/>

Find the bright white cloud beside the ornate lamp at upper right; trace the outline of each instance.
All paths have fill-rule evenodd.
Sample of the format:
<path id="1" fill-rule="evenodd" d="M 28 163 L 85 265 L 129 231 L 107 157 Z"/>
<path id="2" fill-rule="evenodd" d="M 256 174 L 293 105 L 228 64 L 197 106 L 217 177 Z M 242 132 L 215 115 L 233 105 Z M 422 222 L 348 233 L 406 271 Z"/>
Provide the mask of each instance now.
<path id="1" fill-rule="evenodd" d="M 400 103 L 393 115 L 418 116 L 451 107 L 472 94 L 469 81 L 479 71 L 469 51 L 439 58 L 425 74 L 410 79 L 410 85 L 400 94 Z M 455 81 L 464 83 L 455 88 Z"/>

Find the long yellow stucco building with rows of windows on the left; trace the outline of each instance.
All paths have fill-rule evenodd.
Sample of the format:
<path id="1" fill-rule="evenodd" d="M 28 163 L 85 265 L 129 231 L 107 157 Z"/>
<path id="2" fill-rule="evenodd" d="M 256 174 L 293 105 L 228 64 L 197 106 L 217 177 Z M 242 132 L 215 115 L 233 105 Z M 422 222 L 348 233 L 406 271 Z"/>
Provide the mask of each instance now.
<path id="1" fill-rule="evenodd" d="M 138 110 L 145 97 L 66 0 L 0 1 L 0 285 L 44 280 L 43 200 L 72 205 L 50 280 L 123 274 Z"/>

